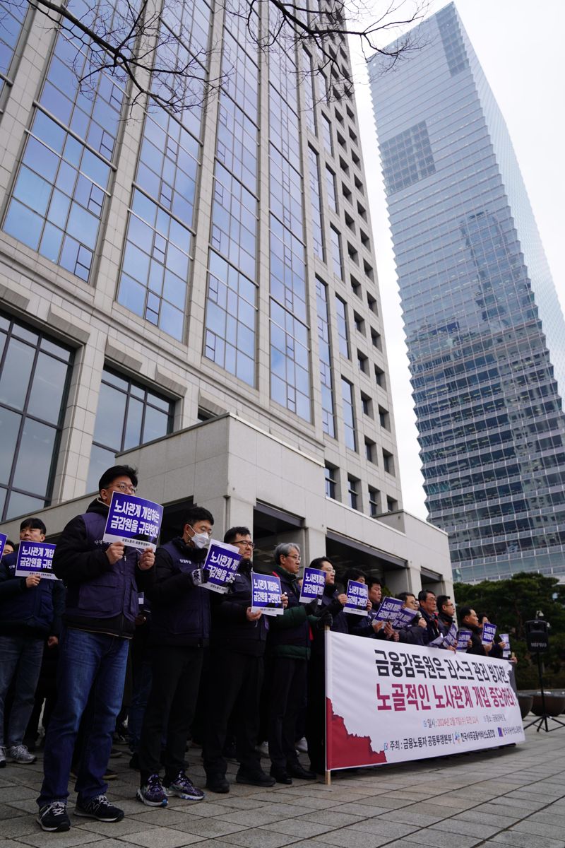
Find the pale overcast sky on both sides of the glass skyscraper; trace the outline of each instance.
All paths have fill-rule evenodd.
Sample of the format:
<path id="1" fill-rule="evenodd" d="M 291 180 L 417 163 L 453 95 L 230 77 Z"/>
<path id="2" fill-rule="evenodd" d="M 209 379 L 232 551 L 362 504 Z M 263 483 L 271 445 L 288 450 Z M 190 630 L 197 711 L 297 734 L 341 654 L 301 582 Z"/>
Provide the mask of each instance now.
<path id="1" fill-rule="evenodd" d="M 446 4 L 445 0 L 431 0 L 428 14 L 434 14 Z M 565 0 L 456 0 L 456 6 L 507 122 L 553 281 L 565 310 Z M 383 8 L 383 0 L 374 0 L 374 8 Z M 385 38 L 383 46 L 391 40 Z M 372 169 L 370 165 L 376 160 L 377 142 L 367 73 L 353 39 L 350 47 L 358 81 L 357 110 L 383 301 L 403 504 L 407 511 L 425 518 L 423 477 L 385 192 L 379 168 Z"/>

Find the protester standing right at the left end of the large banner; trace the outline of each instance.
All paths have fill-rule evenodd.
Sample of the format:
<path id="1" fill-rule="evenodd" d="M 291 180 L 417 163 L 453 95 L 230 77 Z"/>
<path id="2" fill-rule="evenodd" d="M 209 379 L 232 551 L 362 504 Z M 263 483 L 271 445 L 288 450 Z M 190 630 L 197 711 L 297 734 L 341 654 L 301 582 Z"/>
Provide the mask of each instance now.
<path id="1" fill-rule="evenodd" d="M 319 557 L 310 568 L 325 572 L 324 594 L 319 606 L 322 627 L 313 628 L 312 654 L 308 667 L 306 738 L 310 769 L 313 773 L 325 771 L 325 673 L 324 629 L 333 633 L 347 633 L 347 620 L 343 607 L 347 595 L 335 589 L 335 568 L 330 560 Z M 325 616 L 324 618 L 322 616 Z"/>

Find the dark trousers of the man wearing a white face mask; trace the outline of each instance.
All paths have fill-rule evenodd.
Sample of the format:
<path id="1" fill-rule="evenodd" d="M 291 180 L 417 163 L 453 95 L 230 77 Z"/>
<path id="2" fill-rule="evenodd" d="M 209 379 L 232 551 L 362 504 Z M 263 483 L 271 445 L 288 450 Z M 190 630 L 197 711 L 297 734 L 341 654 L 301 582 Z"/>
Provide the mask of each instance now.
<path id="1" fill-rule="evenodd" d="M 161 739 L 166 728 L 165 782 L 185 765 L 186 739 L 191 729 L 202 672 L 202 648 L 162 645 L 150 651 L 152 684 L 139 745 L 141 785 L 158 774 Z"/>

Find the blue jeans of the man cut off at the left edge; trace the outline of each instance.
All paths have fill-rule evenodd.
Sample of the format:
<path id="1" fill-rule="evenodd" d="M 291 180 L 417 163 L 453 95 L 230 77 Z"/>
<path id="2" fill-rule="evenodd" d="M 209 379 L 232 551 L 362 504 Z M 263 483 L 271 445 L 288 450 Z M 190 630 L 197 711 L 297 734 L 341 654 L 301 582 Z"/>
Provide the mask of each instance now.
<path id="1" fill-rule="evenodd" d="M 36 697 L 42 667 L 43 639 L 30 636 L 0 636 L 0 747 L 21 745 Z M 4 702 L 14 680 L 14 701 L 4 739 Z"/>

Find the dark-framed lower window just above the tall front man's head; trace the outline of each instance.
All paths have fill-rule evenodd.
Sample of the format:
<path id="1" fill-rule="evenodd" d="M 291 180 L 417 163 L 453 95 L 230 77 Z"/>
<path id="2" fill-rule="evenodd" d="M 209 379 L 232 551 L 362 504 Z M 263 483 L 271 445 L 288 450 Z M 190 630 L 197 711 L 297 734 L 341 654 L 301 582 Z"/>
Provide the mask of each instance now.
<path id="1" fill-rule="evenodd" d="M 110 414 L 108 415 L 108 410 Z M 87 490 L 122 450 L 161 438 L 173 430 L 174 403 L 141 383 L 104 368 L 92 439 Z"/>

